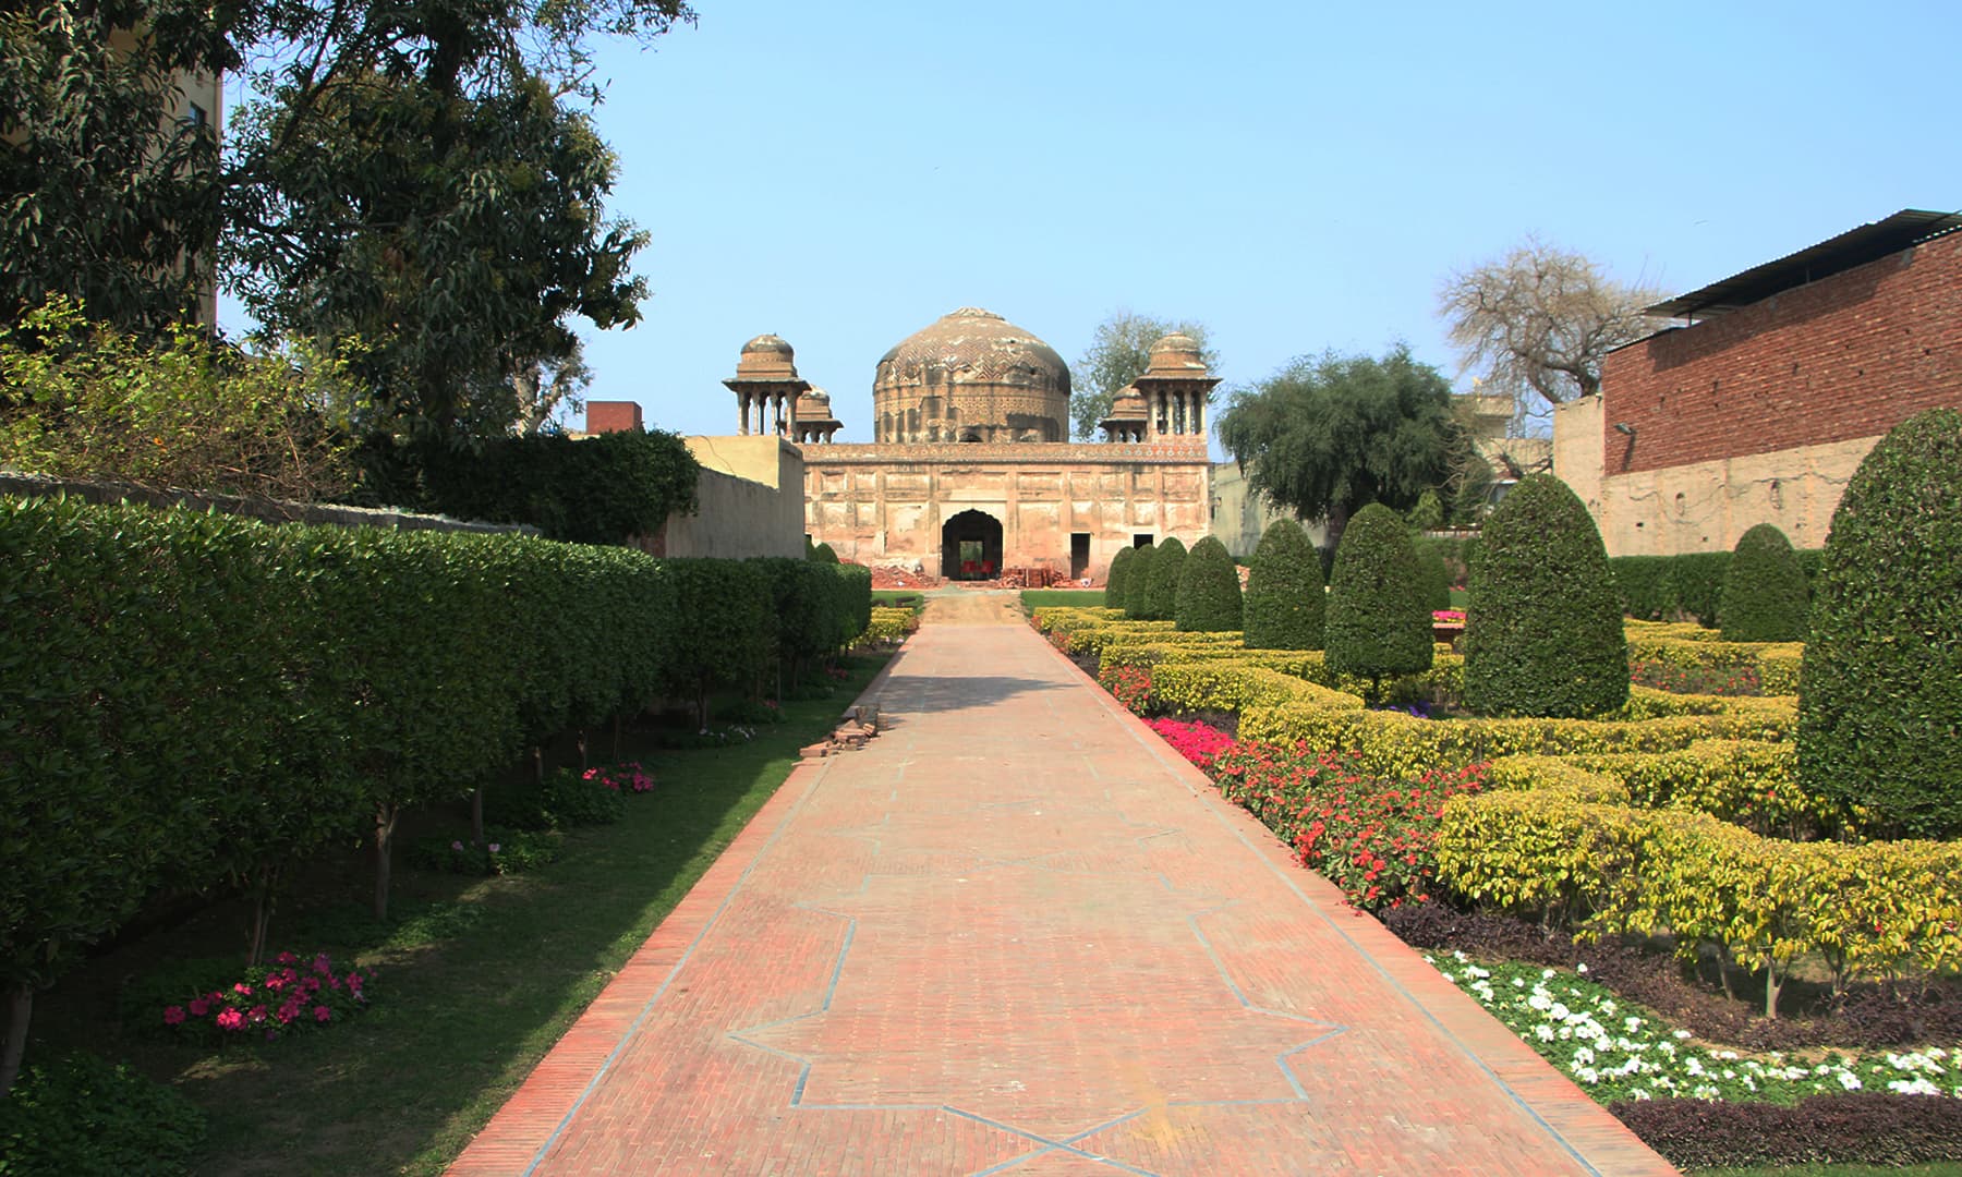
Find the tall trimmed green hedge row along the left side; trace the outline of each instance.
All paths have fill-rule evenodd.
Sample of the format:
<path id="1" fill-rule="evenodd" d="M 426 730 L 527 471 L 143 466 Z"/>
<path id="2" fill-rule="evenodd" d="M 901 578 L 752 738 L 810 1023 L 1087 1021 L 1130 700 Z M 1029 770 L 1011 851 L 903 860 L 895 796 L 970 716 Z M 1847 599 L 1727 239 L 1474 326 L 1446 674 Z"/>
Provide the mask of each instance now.
<path id="1" fill-rule="evenodd" d="M 20 991 L 157 887 L 261 881 L 569 726 L 838 649 L 871 581 L 26 498 L 0 502 L 0 985 Z"/>

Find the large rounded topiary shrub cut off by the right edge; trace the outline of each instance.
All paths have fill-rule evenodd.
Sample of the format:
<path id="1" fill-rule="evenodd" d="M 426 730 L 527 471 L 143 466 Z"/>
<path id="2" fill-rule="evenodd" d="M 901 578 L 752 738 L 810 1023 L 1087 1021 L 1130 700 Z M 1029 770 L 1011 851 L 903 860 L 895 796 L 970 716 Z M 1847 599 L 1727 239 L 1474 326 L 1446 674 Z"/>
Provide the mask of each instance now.
<path id="1" fill-rule="evenodd" d="M 1962 412 L 1907 418 L 1846 485 L 1799 673 L 1799 781 L 1885 832 L 1962 834 Z"/>

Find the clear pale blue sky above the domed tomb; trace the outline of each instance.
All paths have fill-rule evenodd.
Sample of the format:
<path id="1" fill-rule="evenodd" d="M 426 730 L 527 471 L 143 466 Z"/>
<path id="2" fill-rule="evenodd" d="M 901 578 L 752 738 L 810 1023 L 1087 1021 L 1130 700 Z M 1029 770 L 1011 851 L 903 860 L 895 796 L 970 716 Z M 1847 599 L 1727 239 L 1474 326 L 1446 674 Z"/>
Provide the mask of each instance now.
<path id="1" fill-rule="evenodd" d="M 957 306 L 1071 363 L 1193 318 L 1228 386 L 1395 339 L 1456 375 L 1438 282 L 1526 233 L 1674 294 L 1962 208 L 1952 0 L 693 2 L 600 51 L 653 296 L 587 332 L 591 396 L 683 434 L 736 432 L 761 332 L 869 441 L 879 355 Z"/>

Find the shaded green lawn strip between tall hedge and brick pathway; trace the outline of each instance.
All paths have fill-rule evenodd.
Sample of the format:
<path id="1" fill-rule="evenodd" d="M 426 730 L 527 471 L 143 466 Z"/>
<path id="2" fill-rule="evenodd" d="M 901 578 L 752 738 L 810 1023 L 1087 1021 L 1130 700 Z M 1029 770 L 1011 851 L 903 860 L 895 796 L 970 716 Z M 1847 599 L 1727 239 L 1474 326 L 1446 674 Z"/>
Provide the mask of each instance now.
<path id="1" fill-rule="evenodd" d="M 787 702 L 787 720 L 749 743 L 659 751 L 651 734 L 628 732 L 622 759 L 647 765 L 655 791 L 628 796 L 616 826 L 573 830 L 559 861 L 536 873 L 465 879 L 398 859 L 394 918 L 377 924 L 363 857 L 324 863 L 304 902 L 279 912 L 271 947 L 377 969 L 373 1006 L 341 1028 L 222 1051 L 118 1028 L 120 979 L 237 953 L 243 924 L 226 904 L 129 942 L 45 995 L 29 1061 L 86 1048 L 175 1081 L 210 1114 L 198 1173 L 439 1173 L 885 657 L 848 659 L 852 677 L 832 698 Z M 461 812 L 424 826 L 467 836 Z"/>

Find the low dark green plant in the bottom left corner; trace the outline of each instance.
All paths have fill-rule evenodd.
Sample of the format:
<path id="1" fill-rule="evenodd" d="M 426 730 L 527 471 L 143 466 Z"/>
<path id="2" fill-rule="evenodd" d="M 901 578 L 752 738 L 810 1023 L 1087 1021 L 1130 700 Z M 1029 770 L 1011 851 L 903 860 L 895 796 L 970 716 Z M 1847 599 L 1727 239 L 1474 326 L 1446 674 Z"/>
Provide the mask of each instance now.
<path id="1" fill-rule="evenodd" d="M 190 1173 L 202 1140 L 196 1104 L 94 1055 L 31 1063 L 0 1097 L 0 1173 Z"/>

